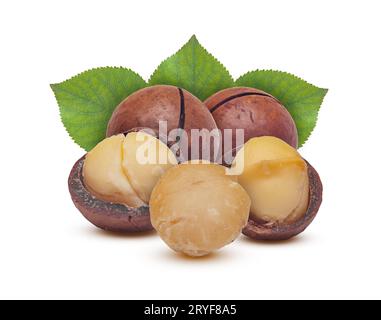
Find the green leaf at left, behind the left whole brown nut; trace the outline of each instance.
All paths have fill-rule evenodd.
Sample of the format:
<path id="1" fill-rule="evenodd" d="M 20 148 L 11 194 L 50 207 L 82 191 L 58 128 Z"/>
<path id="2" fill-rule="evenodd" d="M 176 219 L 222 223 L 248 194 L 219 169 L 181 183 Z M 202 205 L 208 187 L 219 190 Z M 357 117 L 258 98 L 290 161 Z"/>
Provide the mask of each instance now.
<path id="1" fill-rule="evenodd" d="M 130 69 L 105 67 L 85 71 L 50 86 L 69 135 L 89 151 L 105 138 L 107 123 L 115 107 L 146 85 L 142 77 Z"/>

